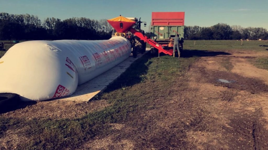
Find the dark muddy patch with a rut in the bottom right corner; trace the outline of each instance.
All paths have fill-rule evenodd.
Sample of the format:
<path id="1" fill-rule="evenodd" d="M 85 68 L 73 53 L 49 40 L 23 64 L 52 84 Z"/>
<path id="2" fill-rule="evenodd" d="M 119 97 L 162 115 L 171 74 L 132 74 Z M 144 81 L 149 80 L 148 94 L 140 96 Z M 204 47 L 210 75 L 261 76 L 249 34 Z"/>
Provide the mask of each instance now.
<path id="1" fill-rule="evenodd" d="M 226 137 L 229 137 L 230 149 L 267 149 L 268 131 L 264 128 L 265 121 L 258 116 L 237 115 L 230 119 L 229 126 L 224 126 Z"/>

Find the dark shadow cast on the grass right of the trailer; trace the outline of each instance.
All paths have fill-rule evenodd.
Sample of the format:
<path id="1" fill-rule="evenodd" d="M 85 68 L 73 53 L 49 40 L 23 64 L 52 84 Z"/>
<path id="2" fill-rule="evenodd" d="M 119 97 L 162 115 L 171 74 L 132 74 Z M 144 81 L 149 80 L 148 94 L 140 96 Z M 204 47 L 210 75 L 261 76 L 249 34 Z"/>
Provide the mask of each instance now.
<path id="1" fill-rule="evenodd" d="M 232 55 L 226 52 L 215 52 L 215 51 L 207 51 L 207 50 L 183 50 L 182 57 L 207 57 L 207 56 L 218 56 L 218 55 Z"/>

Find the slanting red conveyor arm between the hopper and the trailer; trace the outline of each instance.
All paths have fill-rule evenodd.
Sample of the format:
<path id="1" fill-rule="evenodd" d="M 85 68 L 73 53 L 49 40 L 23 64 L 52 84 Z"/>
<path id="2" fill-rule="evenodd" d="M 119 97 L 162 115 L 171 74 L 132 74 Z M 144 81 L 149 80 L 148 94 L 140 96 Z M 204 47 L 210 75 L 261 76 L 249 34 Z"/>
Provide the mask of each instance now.
<path id="1" fill-rule="evenodd" d="M 140 33 L 139 31 L 130 28 L 129 30 L 132 34 L 136 35 L 137 37 L 139 37 L 141 40 L 143 40 L 144 42 L 147 42 L 148 44 L 150 44 L 152 47 L 156 48 L 159 50 L 159 53 L 164 53 L 164 54 L 168 54 L 170 56 L 172 56 L 173 54 L 170 53 L 169 51 L 165 50 L 162 48 L 162 45 L 151 40 L 150 38 L 148 38 L 147 36 L 143 35 L 142 33 Z"/>

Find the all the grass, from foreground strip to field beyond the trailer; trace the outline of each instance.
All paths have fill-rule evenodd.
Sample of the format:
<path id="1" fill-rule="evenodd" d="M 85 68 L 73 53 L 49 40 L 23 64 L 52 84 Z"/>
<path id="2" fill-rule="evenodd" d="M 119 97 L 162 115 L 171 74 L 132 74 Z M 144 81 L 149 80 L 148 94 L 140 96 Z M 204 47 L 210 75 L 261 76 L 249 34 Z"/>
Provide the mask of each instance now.
<path id="1" fill-rule="evenodd" d="M 151 122 L 139 121 L 139 117 L 160 107 L 155 99 L 167 100 L 176 95 L 172 87 L 177 86 L 175 83 L 179 78 L 183 81 L 183 78 L 187 76 L 185 73 L 199 57 L 208 56 L 207 54 L 209 56 L 227 54 L 219 52 L 224 50 L 266 51 L 265 47 L 259 45 L 268 45 L 268 42 L 244 41 L 244 45 L 241 45 L 241 41 L 196 41 L 196 44 L 193 44 L 194 41 L 185 41 L 184 57 L 180 59 L 170 56 L 157 58 L 146 54 L 139 61 L 134 62 L 116 82 L 107 88 L 104 94 L 95 97 L 93 102 L 105 100 L 109 103 L 109 106 L 102 110 L 75 119 L 26 119 L 1 116 L 0 137 L 4 136 L 6 131 L 22 129 L 21 134 L 27 140 L 19 143 L 17 149 L 75 149 L 93 138 L 104 138 L 110 134 L 115 134 L 118 138 L 124 137 L 111 124 L 127 124 L 131 127 L 137 124 L 148 127 L 147 123 L 153 125 L 154 123 Z M 1 54 L 3 55 L 4 52 L 0 52 L 0 57 Z M 268 69 L 267 60 L 267 58 L 260 57 L 254 62 L 260 68 Z M 228 58 L 223 62 L 227 62 L 222 64 L 227 70 L 233 68 Z M 180 87 L 184 86 L 186 85 L 181 82 Z M 161 119 L 159 114 L 155 117 Z M 194 123 L 190 125 L 192 124 Z M 188 126 L 184 124 L 185 128 Z M 148 128 L 154 129 L 151 126 Z M 204 127 L 200 126 L 200 128 Z M 146 131 L 145 128 L 139 130 Z M 165 140 L 170 140 L 175 136 L 165 135 L 166 133 L 154 134 L 156 135 L 152 137 L 166 138 Z M 142 140 L 145 137 L 136 138 L 136 140 Z M 161 141 L 161 138 L 155 141 Z M 159 145 L 157 146 L 161 147 L 161 142 Z"/>

